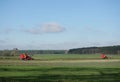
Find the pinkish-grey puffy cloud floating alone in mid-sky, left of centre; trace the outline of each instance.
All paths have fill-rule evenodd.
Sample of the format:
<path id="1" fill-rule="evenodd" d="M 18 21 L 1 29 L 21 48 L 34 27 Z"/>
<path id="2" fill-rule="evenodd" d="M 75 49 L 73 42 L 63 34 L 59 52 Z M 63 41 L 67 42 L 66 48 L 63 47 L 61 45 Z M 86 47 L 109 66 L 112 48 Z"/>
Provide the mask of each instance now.
<path id="1" fill-rule="evenodd" d="M 58 23 L 45 23 L 40 27 L 27 29 L 26 32 L 30 34 L 43 34 L 43 33 L 58 33 L 65 31 L 65 28 Z"/>

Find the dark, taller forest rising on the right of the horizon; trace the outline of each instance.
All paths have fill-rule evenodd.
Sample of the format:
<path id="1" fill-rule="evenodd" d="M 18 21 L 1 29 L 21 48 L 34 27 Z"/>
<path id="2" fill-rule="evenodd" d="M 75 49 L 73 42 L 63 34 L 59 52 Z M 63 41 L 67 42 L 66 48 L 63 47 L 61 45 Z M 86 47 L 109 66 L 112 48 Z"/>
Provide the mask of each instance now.
<path id="1" fill-rule="evenodd" d="M 69 54 L 96 54 L 96 53 L 120 54 L 120 45 L 105 46 L 105 47 L 76 48 L 76 49 L 70 49 L 68 53 Z"/>

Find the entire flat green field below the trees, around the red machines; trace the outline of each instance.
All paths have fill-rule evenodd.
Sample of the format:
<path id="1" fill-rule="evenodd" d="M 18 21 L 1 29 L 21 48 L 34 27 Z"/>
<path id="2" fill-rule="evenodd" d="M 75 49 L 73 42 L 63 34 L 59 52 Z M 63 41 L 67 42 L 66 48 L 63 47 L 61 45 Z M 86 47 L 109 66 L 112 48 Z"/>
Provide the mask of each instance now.
<path id="1" fill-rule="evenodd" d="M 120 82 L 120 55 L 33 55 L 0 57 L 0 82 Z"/>

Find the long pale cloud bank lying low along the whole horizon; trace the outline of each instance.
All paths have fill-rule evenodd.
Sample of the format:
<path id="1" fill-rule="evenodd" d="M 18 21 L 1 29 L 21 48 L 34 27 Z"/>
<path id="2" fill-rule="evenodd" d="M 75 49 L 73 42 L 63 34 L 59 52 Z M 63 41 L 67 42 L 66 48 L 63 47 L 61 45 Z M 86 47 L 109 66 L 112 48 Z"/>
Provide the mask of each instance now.
<path id="1" fill-rule="evenodd" d="M 113 46 L 119 45 L 120 42 L 61 42 L 61 43 L 28 43 L 28 44 L 14 44 L 2 41 L 0 44 L 0 50 L 4 49 L 13 49 L 18 48 L 20 50 L 69 50 L 73 48 L 82 48 L 82 47 L 100 47 L 100 46 Z"/>

